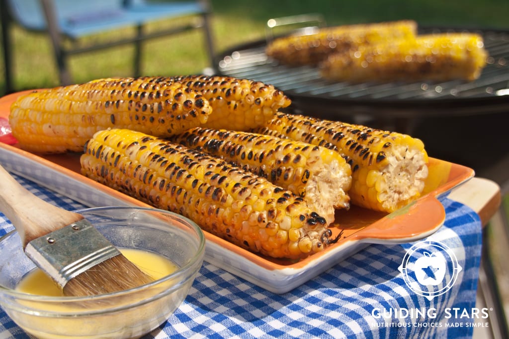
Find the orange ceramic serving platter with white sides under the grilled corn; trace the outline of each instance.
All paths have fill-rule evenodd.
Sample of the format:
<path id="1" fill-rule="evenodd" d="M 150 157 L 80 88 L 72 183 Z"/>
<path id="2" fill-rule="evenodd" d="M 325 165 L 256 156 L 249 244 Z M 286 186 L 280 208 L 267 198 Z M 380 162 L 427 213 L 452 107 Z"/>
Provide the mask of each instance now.
<path id="1" fill-rule="evenodd" d="M 0 116 L 9 116 L 10 105 L 20 94 L 0 98 Z M 88 206 L 147 206 L 82 176 L 79 157 L 78 153 L 36 155 L 16 144 L 0 143 L 2 166 Z M 430 158 L 429 176 L 420 199 L 390 214 L 356 206 L 348 211 L 336 211 L 331 229 L 333 237 L 343 231 L 340 240 L 300 261 L 263 257 L 208 232 L 205 232 L 205 260 L 267 290 L 285 293 L 370 243 L 404 243 L 433 234 L 445 219 L 444 208 L 437 198 L 473 175 L 474 171 L 468 167 Z"/>

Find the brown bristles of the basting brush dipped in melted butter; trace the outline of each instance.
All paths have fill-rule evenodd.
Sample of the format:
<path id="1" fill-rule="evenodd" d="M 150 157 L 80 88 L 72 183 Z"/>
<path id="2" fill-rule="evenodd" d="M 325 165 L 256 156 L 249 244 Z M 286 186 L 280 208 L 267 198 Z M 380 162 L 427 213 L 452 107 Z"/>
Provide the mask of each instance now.
<path id="1" fill-rule="evenodd" d="M 118 292 L 145 285 L 154 279 L 122 254 L 78 274 L 64 286 L 66 296 L 88 296 Z"/>

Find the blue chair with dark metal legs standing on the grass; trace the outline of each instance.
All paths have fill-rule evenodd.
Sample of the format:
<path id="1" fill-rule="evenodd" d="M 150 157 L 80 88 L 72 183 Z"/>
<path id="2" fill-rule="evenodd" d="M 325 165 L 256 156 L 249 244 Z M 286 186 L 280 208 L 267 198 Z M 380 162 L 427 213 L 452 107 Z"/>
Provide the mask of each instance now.
<path id="1" fill-rule="evenodd" d="M 48 34 L 62 85 L 72 83 L 67 58 L 73 54 L 134 44 L 134 76 L 140 75 L 142 42 L 177 34 L 189 29 L 203 29 L 205 48 L 214 67 L 214 45 L 210 27 L 210 6 L 207 0 L 154 2 L 145 0 L 0 0 L 2 40 L 4 49 L 6 93 L 12 86 L 12 48 L 10 28 L 13 23 L 26 30 Z M 156 20 L 197 16 L 200 22 L 184 23 L 156 32 L 144 32 L 144 25 Z M 131 37 L 79 47 L 66 47 L 64 40 L 76 41 L 102 32 L 136 27 Z"/>

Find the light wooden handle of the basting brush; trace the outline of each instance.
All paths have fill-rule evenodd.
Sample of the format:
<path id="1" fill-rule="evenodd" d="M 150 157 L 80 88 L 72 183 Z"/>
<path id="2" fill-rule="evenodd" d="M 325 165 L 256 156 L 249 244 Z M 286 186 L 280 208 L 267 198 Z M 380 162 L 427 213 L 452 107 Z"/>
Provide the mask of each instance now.
<path id="1" fill-rule="evenodd" d="M 0 166 L 0 211 L 18 231 L 23 249 L 33 239 L 83 219 L 81 214 L 51 205 L 22 187 Z"/>

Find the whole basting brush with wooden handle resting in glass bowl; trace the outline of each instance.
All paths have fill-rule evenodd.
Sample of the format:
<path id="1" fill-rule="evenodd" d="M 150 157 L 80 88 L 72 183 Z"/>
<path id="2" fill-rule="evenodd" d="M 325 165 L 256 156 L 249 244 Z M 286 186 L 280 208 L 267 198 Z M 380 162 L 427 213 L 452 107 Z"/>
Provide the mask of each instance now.
<path id="1" fill-rule="evenodd" d="M 81 214 L 51 205 L 0 166 L 0 210 L 19 233 L 24 252 L 64 295 L 122 291 L 154 281 Z"/>

